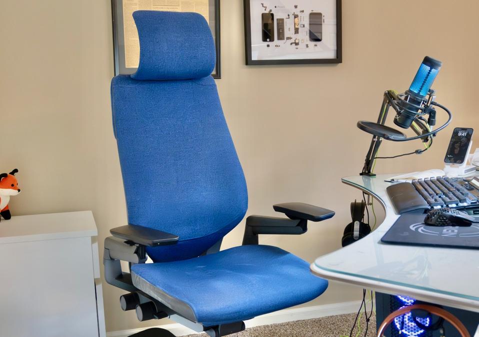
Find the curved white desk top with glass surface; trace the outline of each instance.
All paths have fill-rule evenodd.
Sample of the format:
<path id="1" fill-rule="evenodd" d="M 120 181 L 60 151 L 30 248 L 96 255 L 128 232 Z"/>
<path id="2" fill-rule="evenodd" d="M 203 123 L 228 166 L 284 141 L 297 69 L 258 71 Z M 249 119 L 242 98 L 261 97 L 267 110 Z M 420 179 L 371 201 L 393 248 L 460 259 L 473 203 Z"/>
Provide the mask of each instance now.
<path id="1" fill-rule="evenodd" d="M 386 194 L 393 175 L 343 178 L 377 200 L 385 211 L 382 224 L 363 239 L 317 258 L 311 271 L 390 295 L 479 312 L 479 250 L 389 245 L 381 237 L 399 217 Z"/>

